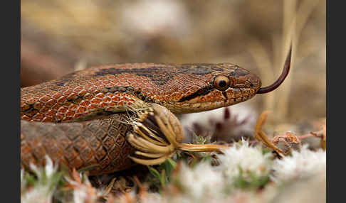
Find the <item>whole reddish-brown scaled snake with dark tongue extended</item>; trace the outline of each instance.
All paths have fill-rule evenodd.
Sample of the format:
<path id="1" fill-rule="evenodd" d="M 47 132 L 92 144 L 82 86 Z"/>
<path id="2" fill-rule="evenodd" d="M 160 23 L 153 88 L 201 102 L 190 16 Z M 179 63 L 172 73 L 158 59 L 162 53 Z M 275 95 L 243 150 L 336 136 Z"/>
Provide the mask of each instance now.
<path id="1" fill-rule="evenodd" d="M 88 67 L 21 88 L 21 167 L 43 165 L 46 155 L 90 175 L 132 167 L 134 131 L 128 109 L 147 104 L 172 114 L 209 111 L 273 91 L 290 70 L 290 55 L 273 84 L 229 62 L 206 64 L 120 63 Z"/>

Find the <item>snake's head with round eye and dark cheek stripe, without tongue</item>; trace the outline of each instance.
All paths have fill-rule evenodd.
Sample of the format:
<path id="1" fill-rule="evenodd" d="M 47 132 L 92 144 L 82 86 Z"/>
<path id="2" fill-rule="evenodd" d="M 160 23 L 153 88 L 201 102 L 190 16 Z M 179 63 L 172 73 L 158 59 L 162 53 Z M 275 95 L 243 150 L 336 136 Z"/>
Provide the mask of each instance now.
<path id="1" fill-rule="evenodd" d="M 193 71 L 184 82 L 185 94 L 179 97 L 174 113 L 207 111 L 231 106 L 251 99 L 261 87 L 261 79 L 246 69 L 231 63 L 198 65 L 208 68 L 209 74 Z"/>

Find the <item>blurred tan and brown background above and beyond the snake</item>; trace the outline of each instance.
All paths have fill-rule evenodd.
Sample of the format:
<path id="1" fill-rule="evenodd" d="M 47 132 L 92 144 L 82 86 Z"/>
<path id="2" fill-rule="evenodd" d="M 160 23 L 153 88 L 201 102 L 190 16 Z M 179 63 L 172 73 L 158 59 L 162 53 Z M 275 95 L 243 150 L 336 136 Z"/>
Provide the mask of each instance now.
<path id="1" fill-rule="evenodd" d="M 288 78 L 246 105 L 271 110 L 275 131 L 304 133 L 326 114 L 325 10 L 318 0 L 21 0 L 21 87 L 117 62 L 231 62 L 266 86 L 293 40 Z"/>

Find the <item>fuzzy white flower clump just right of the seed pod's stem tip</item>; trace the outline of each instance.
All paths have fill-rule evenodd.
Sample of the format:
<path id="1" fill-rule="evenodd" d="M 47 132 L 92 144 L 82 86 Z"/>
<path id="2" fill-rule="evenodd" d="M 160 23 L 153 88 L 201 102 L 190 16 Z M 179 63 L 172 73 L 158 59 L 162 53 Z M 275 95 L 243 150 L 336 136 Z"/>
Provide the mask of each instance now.
<path id="1" fill-rule="evenodd" d="M 221 164 L 217 167 L 225 172 L 232 180 L 238 177 L 240 169 L 243 177 L 248 178 L 250 174 L 258 176 L 268 175 L 271 168 L 271 153 L 263 155 L 261 148 L 249 146 L 248 141 L 242 141 L 242 145 L 235 143 L 234 146 L 223 150 L 223 155 L 218 155 Z"/>

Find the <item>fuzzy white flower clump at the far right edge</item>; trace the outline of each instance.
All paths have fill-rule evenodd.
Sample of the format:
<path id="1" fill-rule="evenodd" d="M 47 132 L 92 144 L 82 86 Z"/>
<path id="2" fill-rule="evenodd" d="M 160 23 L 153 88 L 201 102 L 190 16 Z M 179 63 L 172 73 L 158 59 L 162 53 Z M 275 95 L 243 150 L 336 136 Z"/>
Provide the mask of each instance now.
<path id="1" fill-rule="evenodd" d="M 326 153 L 322 149 L 309 150 L 304 145 L 300 152 L 293 151 L 292 156 L 275 160 L 273 170 L 275 172 L 271 178 L 276 182 L 313 176 L 326 170 Z"/>

